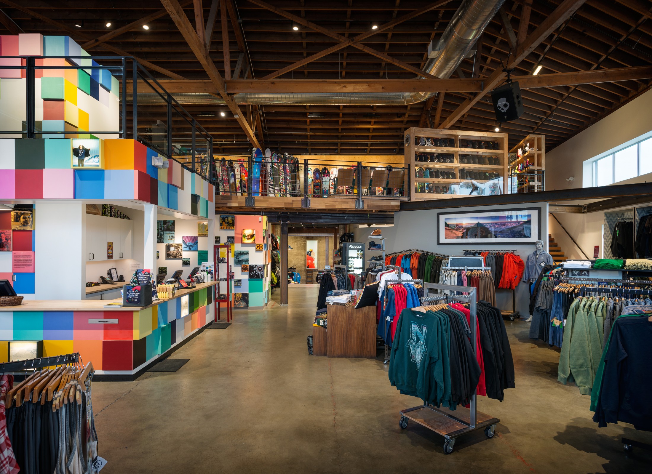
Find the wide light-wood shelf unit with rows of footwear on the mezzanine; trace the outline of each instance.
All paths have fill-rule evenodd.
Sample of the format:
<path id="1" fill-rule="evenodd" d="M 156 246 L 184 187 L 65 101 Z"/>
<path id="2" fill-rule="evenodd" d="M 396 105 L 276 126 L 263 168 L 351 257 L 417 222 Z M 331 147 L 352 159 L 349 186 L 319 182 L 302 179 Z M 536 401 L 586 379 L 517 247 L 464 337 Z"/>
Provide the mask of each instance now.
<path id="1" fill-rule="evenodd" d="M 414 183 L 411 200 L 460 198 L 469 195 L 466 188 L 481 194 L 477 185 L 492 182 L 497 183 L 492 194 L 505 192 L 507 134 L 411 127 L 404 140 Z M 465 190 L 451 192 L 462 183 Z"/>

